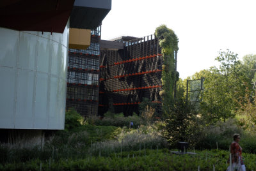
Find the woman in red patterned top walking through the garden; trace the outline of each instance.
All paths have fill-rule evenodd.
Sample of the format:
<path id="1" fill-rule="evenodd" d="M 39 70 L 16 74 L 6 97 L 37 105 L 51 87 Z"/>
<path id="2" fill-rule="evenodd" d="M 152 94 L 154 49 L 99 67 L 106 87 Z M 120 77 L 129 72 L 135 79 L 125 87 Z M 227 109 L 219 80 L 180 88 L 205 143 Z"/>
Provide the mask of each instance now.
<path id="1" fill-rule="evenodd" d="M 241 139 L 238 133 L 233 135 L 234 141 L 230 145 L 230 153 L 231 153 L 231 170 L 237 171 L 246 171 L 244 162 L 242 160 L 242 147 L 239 145 L 239 141 Z M 230 159 L 228 160 L 228 162 Z M 227 168 L 227 171 L 230 171 L 230 166 Z"/>

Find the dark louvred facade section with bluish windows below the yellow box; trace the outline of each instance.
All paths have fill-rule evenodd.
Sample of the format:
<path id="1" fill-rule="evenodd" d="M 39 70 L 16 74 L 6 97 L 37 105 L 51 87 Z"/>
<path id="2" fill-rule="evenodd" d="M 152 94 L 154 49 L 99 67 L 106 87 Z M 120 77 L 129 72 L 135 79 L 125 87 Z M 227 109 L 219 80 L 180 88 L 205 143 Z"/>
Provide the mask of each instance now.
<path id="1" fill-rule="evenodd" d="M 99 106 L 100 26 L 91 31 L 91 44 L 86 50 L 68 51 L 66 109 L 79 114 L 97 115 Z"/>

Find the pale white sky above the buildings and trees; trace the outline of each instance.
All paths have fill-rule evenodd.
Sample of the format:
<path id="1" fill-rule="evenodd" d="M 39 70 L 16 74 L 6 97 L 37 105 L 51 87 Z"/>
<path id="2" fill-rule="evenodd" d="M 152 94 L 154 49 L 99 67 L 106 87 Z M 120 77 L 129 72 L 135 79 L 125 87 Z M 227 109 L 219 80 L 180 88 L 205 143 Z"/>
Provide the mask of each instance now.
<path id="1" fill-rule="evenodd" d="M 255 0 L 112 0 L 102 40 L 143 37 L 165 24 L 179 38 L 177 71 L 184 79 L 216 66 L 218 51 L 256 54 Z"/>

